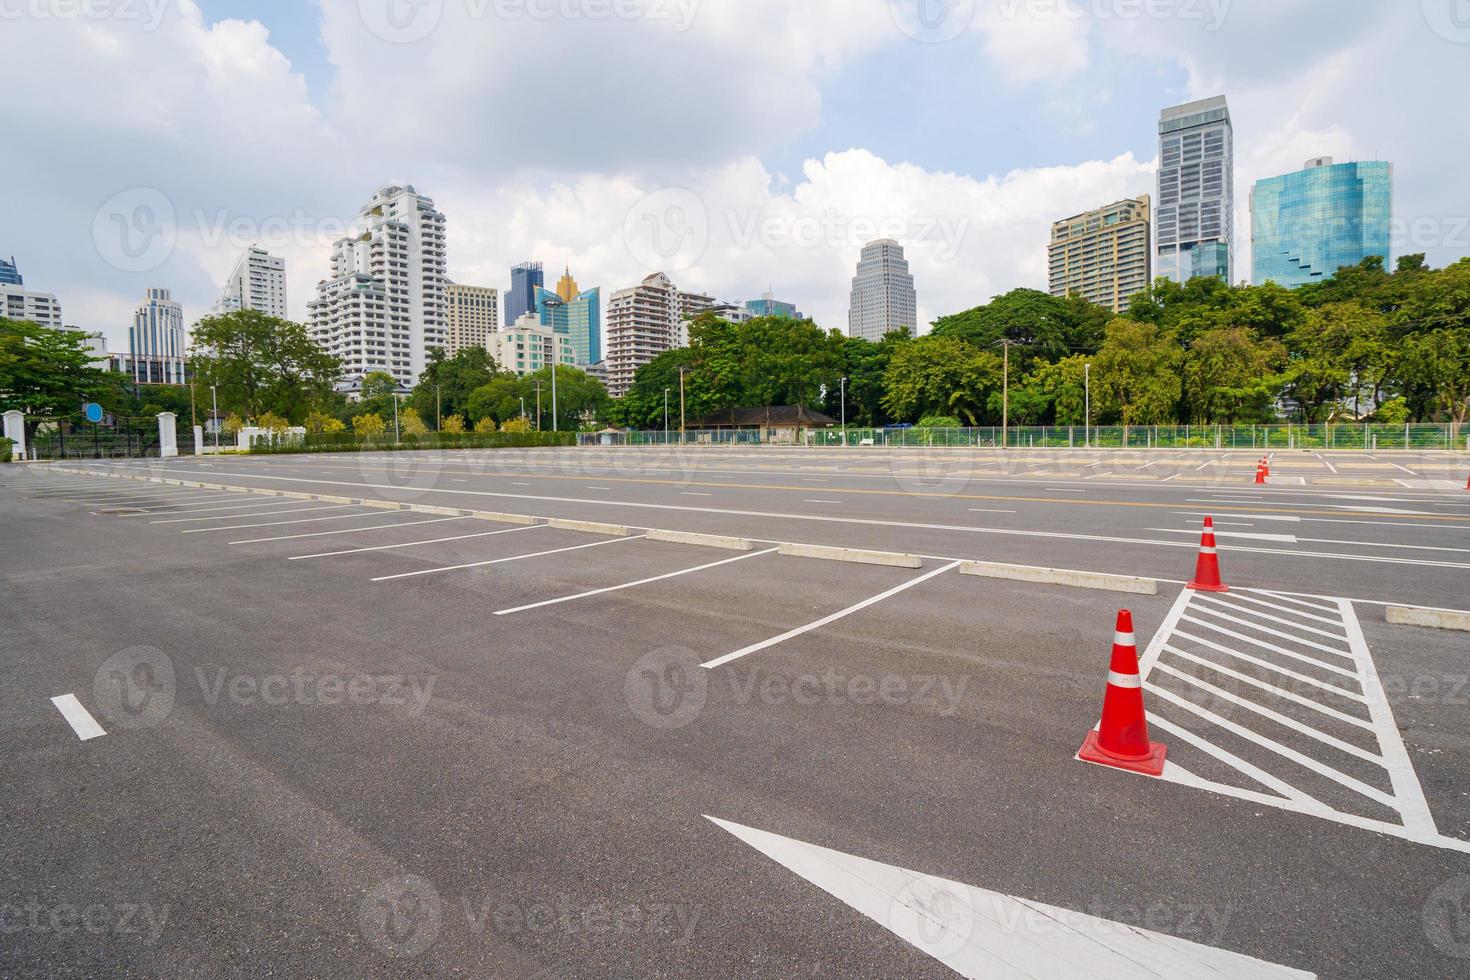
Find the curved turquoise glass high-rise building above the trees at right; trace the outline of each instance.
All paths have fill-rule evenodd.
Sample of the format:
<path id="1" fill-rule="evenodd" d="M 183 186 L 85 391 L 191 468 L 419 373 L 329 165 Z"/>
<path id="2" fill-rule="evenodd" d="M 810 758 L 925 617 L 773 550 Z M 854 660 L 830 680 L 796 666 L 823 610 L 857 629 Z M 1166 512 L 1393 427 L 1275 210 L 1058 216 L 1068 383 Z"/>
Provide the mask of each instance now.
<path id="1" fill-rule="evenodd" d="M 1389 260 L 1394 165 L 1307 160 L 1251 188 L 1251 279 L 1297 288 L 1369 256 Z"/>

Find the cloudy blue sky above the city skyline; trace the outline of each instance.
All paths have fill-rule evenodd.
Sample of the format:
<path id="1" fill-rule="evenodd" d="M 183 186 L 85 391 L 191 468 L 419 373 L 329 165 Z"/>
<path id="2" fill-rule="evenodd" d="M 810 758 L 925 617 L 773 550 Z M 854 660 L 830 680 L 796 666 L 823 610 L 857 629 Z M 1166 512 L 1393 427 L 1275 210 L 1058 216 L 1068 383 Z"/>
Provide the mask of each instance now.
<path id="1" fill-rule="evenodd" d="M 1251 182 L 1322 154 L 1394 162 L 1396 251 L 1470 253 L 1470 109 L 1444 97 L 1470 88 L 1466 0 L 616 3 L 32 0 L 0 24 L 0 85 L 29 93 L 0 104 L 25 188 L 0 254 L 115 344 L 147 287 L 201 316 L 253 242 L 304 317 L 332 239 L 412 182 L 460 282 L 664 270 L 844 326 L 882 234 L 928 320 L 1044 287 L 1050 223 L 1152 192 L 1158 110 L 1222 93 L 1238 279 Z M 168 234 L 134 259 L 116 235 L 140 213 Z M 689 234 L 651 248 L 675 219 Z"/>

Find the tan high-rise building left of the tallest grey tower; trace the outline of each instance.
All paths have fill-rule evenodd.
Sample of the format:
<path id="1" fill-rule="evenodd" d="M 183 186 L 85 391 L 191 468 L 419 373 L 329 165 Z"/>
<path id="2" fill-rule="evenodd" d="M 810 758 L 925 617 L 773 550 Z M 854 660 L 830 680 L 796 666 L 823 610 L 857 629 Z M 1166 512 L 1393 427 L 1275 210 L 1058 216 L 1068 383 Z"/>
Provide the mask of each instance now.
<path id="1" fill-rule="evenodd" d="M 1047 248 L 1051 295 L 1080 295 L 1126 313 L 1129 300 L 1151 281 L 1148 228 L 1148 194 L 1053 222 Z"/>

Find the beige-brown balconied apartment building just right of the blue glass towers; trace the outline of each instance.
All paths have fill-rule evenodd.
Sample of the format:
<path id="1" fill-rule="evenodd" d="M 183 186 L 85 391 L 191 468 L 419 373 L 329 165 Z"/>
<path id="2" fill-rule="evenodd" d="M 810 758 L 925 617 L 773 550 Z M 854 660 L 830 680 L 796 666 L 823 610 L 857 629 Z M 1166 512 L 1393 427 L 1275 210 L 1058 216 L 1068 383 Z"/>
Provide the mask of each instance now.
<path id="1" fill-rule="evenodd" d="M 688 344 L 688 320 L 714 306 L 700 292 L 681 292 L 662 272 L 607 301 L 607 392 L 620 398 L 634 375 L 659 354 Z"/>

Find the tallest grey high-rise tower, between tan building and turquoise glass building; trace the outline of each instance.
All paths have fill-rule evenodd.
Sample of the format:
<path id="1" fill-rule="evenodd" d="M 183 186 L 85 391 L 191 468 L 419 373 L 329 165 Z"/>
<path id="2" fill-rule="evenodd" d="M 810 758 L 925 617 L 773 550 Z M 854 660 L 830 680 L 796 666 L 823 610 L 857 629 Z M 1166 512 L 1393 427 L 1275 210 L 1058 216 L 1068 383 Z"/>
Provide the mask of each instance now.
<path id="1" fill-rule="evenodd" d="M 1158 118 L 1154 273 L 1175 282 L 1235 269 L 1235 135 L 1225 96 Z"/>

